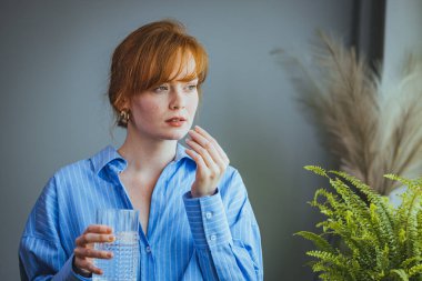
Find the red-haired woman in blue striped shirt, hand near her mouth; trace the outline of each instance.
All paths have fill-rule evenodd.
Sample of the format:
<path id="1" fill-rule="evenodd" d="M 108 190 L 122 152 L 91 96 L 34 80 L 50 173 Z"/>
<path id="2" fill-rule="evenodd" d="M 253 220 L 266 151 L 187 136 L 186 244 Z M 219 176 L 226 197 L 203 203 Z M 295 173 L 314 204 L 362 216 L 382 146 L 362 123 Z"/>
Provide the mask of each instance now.
<path id="1" fill-rule="evenodd" d="M 208 57 L 175 21 L 129 34 L 113 53 L 109 99 L 124 143 L 59 170 L 20 243 L 29 280 L 90 280 L 102 271 L 99 208 L 140 210 L 141 280 L 262 280 L 259 228 L 239 172 L 202 128 L 190 130 Z M 187 133 L 187 144 L 178 143 Z"/>

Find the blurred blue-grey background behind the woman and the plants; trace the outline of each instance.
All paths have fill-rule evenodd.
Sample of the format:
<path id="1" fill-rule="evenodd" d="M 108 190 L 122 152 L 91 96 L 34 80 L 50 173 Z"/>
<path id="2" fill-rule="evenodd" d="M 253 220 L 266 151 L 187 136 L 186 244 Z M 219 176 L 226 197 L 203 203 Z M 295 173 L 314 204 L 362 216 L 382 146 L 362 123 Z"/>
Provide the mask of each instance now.
<path id="1" fill-rule="evenodd" d="M 311 244 L 293 233 L 319 221 L 307 201 L 324 183 L 302 167 L 335 167 L 271 52 L 307 60 L 321 29 L 383 61 L 389 74 L 405 51 L 421 50 L 421 14 L 420 0 L 2 0 L 0 279 L 19 280 L 19 239 L 53 172 L 123 141 L 105 96 L 113 49 L 138 27 L 174 18 L 209 52 L 197 123 L 243 177 L 264 279 L 312 280 Z"/>

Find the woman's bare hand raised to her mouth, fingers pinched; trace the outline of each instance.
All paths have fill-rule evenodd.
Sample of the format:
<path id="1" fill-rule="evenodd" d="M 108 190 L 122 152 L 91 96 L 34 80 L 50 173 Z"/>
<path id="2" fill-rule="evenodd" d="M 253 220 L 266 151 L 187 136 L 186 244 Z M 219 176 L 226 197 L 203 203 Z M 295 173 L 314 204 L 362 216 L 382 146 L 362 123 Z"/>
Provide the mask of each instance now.
<path id="1" fill-rule="evenodd" d="M 187 153 L 197 162 L 195 181 L 192 184 L 193 198 L 212 195 L 229 165 L 229 158 L 219 143 L 202 128 L 195 126 L 189 131 Z"/>

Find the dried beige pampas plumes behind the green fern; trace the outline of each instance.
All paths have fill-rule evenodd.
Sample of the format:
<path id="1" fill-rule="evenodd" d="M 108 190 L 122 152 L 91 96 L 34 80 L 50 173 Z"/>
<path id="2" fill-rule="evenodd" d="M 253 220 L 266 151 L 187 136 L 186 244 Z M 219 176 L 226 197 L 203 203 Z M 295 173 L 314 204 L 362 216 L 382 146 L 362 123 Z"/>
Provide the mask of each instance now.
<path id="1" fill-rule="evenodd" d="M 353 48 L 320 33 L 316 72 L 287 56 L 299 100 L 322 129 L 324 144 L 340 169 L 381 194 L 395 188 L 384 174 L 422 175 L 422 60 L 410 56 L 393 86 L 376 76 Z"/>

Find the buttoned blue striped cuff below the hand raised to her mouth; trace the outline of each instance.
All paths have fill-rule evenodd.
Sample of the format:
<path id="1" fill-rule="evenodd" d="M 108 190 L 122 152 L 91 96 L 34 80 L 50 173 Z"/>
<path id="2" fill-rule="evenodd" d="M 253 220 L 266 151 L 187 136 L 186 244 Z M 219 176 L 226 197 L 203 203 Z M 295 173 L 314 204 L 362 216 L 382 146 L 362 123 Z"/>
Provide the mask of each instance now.
<path id="1" fill-rule="evenodd" d="M 198 249 L 213 248 L 232 241 L 220 191 L 210 197 L 183 195 L 188 221 Z"/>

